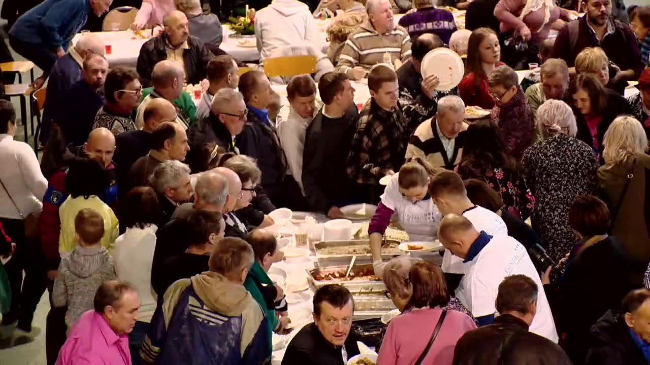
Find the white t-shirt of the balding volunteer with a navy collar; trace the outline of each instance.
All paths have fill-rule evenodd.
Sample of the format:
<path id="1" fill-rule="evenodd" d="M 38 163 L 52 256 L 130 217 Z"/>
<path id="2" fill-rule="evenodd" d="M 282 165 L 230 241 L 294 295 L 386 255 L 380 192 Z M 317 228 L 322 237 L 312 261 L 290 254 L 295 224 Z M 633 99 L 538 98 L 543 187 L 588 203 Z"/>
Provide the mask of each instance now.
<path id="1" fill-rule="evenodd" d="M 499 284 L 509 275 L 526 275 L 538 287 L 537 313 L 530 325 L 530 332 L 558 342 L 558 333 L 551 313 L 549 301 L 539 279 L 539 273 L 532 264 L 526 247 L 510 236 L 494 236 L 474 257 L 469 270 L 456 289 L 456 297 L 469 309 L 474 318 L 497 316 L 495 301 Z"/>

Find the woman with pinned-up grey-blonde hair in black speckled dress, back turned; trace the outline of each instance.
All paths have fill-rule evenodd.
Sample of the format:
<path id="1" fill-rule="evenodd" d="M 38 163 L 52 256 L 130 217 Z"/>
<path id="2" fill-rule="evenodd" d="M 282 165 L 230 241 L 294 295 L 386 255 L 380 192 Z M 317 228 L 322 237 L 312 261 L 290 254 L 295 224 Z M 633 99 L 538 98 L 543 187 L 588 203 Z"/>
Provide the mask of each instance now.
<path id="1" fill-rule="evenodd" d="M 558 262 L 577 241 L 567 221 L 569 207 L 578 195 L 593 193 L 598 164 L 591 147 L 575 138 L 575 117 L 564 101 L 543 103 L 537 125 L 541 140 L 526 149 L 521 168 L 535 199 L 532 227 Z"/>

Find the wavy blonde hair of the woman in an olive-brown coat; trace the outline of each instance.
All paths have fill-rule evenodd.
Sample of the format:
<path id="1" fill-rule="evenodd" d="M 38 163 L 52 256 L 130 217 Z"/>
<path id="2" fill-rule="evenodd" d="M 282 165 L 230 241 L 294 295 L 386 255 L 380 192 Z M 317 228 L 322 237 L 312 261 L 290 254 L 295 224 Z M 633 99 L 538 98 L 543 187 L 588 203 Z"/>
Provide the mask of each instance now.
<path id="1" fill-rule="evenodd" d="M 648 139 L 640 121 L 632 116 L 619 116 L 605 132 L 603 145 L 605 164 L 624 164 L 628 157 L 647 150 Z"/>

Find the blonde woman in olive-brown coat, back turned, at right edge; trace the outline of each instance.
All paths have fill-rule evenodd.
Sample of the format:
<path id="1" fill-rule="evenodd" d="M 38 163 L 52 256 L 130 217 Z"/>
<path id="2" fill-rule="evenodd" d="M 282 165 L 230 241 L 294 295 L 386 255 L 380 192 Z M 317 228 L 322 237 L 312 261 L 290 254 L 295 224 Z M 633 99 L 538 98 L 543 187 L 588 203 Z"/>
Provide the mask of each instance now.
<path id="1" fill-rule="evenodd" d="M 598 170 L 598 184 L 612 215 L 612 234 L 634 259 L 633 272 L 640 277 L 650 261 L 648 140 L 641 123 L 625 115 L 612 122 L 603 144 L 605 164 Z"/>

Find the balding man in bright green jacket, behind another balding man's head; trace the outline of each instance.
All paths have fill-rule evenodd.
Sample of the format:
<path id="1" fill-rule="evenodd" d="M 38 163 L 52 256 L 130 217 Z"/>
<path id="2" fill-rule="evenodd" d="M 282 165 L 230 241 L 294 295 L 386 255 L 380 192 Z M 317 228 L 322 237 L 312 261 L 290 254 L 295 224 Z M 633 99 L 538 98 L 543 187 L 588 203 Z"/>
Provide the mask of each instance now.
<path id="1" fill-rule="evenodd" d="M 183 67 L 177 62 L 162 60 L 153 67 L 151 77 L 153 87 L 142 90 L 142 103 L 135 116 L 136 128 L 144 127 L 144 111 L 149 103 L 154 99 L 165 99 L 174 104 L 175 121 L 187 129 L 196 121 L 196 105 L 190 95 L 183 92 Z"/>

